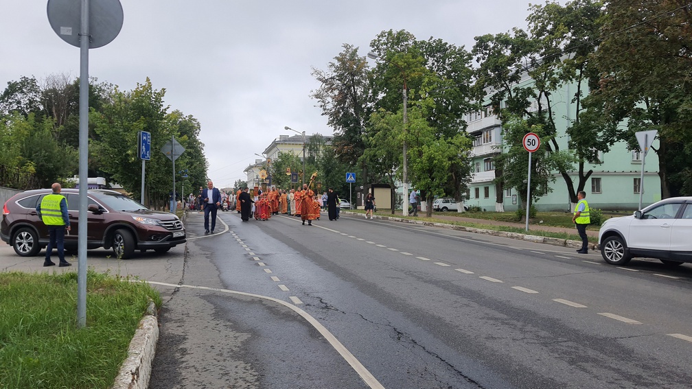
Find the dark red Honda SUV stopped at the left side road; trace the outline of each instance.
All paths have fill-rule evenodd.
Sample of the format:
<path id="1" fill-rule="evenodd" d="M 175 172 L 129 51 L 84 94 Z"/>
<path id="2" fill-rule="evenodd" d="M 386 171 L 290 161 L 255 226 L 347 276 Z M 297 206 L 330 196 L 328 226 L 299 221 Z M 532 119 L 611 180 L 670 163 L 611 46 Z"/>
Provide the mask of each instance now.
<path id="1" fill-rule="evenodd" d="M 48 245 L 48 228 L 36 212 L 37 204 L 50 189 L 28 190 L 15 194 L 3 206 L 0 238 L 23 257 L 37 255 Z M 71 231 L 65 235 L 65 248 L 77 251 L 79 190 L 63 189 L 67 199 Z M 135 250 L 165 253 L 183 244 L 185 227 L 180 219 L 167 212 L 149 210 L 142 204 L 113 190 L 89 190 L 86 248 L 113 248 L 122 259 Z"/>

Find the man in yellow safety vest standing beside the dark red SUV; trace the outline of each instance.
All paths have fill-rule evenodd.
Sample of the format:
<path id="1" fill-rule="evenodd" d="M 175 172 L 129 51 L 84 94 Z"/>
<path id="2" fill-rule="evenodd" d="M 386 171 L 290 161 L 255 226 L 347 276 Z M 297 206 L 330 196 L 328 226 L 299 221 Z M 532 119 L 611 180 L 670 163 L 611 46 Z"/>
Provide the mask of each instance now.
<path id="1" fill-rule="evenodd" d="M 57 257 L 60 258 L 58 266 L 72 266 L 70 262 L 65 260 L 65 230 L 70 230 L 70 219 L 67 213 L 67 200 L 60 194 L 62 186 L 60 183 L 54 183 L 51 186 L 53 193 L 46 194 L 41 200 L 41 203 L 36 207 L 36 212 L 48 226 L 48 234 L 51 239 L 46 247 L 46 260 L 44 266 L 55 266 L 55 262 L 51 261 L 51 253 L 53 247 L 57 248 Z"/>

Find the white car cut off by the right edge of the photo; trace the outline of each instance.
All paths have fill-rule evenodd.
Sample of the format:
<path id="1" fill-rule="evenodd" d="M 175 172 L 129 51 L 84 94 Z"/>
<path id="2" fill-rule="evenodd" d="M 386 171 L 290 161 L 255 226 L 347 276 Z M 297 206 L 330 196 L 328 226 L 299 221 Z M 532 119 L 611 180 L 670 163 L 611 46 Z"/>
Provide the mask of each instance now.
<path id="1" fill-rule="evenodd" d="M 632 216 L 606 220 L 599 245 L 609 264 L 627 264 L 632 257 L 657 258 L 673 266 L 692 262 L 692 197 L 671 197 Z"/>

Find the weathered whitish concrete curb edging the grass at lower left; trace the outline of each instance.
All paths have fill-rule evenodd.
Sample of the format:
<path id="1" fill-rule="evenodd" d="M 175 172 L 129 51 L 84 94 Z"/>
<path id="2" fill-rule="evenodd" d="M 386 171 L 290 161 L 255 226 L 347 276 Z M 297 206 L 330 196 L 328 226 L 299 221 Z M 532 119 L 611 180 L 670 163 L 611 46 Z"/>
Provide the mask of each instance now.
<path id="1" fill-rule="evenodd" d="M 146 389 L 149 386 L 157 342 L 158 318 L 152 301 L 130 341 L 127 359 L 120 366 L 112 389 Z"/>

